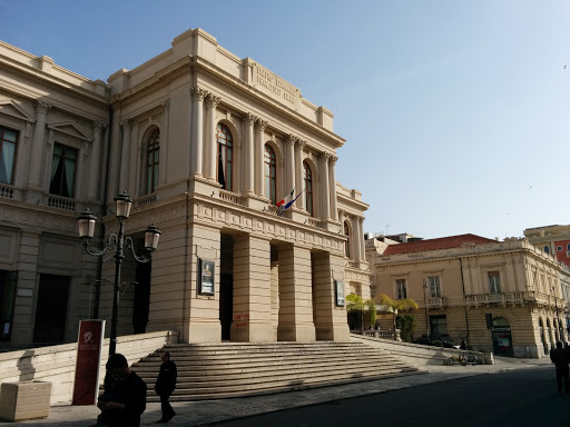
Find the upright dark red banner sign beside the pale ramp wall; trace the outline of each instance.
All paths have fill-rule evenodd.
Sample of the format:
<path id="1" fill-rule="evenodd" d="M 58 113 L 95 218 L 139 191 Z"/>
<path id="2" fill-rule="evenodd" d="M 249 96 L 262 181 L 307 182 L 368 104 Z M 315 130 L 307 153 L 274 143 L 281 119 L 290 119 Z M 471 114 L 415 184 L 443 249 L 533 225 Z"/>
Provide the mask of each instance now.
<path id="1" fill-rule="evenodd" d="M 95 405 L 97 403 L 104 332 L 105 320 L 81 320 L 79 322 L 71 405 Z"/>

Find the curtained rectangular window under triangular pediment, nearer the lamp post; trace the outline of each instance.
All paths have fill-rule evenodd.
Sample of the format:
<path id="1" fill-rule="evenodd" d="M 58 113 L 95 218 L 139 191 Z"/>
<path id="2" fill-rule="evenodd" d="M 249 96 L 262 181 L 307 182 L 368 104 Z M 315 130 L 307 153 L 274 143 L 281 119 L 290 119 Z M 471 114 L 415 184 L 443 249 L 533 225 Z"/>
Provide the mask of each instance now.
<path id="1" fill-rule="evenodd" d="M 60 143 L 53 145 L 49 192 L 62 197 L 73 197 L 77 150 Z"/>

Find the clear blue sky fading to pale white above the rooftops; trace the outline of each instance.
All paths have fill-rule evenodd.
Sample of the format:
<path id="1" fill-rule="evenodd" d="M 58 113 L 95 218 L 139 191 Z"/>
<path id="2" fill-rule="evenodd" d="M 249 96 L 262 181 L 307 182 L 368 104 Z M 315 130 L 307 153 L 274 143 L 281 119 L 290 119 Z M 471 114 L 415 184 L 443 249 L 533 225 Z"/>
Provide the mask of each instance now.
<path id="1" fill-rule="evenodd" d="M 333 111 L 365 231 L 570 224 L 568 1 L 0 0 L 0 40 L 94 80 L 203 28 Z"/>

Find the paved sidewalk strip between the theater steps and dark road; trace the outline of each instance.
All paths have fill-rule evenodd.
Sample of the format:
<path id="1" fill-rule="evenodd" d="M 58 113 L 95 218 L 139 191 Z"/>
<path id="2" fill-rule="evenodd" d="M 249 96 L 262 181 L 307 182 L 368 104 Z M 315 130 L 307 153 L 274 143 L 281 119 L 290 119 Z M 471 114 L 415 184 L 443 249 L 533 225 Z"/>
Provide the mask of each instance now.
<path id="1" fill-rule="evenodd" d="M 386 378 L 374 381 L 314 388 L 302 391 L 279 393 L 266 396 L 173 403 L 173 407 L 177 415 L 167 424 L 167 426 L 205 426 L 230 418 L 239 418 L 293 407 L 308 406 L 346 397 L 390 391 L 436 381 L 446 381 L 451 379 L 470 377 L 474 375 L 497 374 L 513 369 L 528 369 L 538 367 L 547 368 L 552 367 L 552 365 L 548 358 L 510 359 L 497 357 L 495 365 L 430 365 L 422 368 L 425 374 L 412 375 L 407 377 Z M 149 393 L 153 391 L 149 390 Z M 0 426 L 30 425 L 89 427 L 96 424 L 99 409 L 97 409 L 96 406 L 61 405 L 52 406 L 48 418 L 20 421 L 18 424 L 0 423 Z M 141 425 L 155 425 L 160 416 L 160 404 L 148 404 L 147 410 L 145 414 L 142 414 Z"/>

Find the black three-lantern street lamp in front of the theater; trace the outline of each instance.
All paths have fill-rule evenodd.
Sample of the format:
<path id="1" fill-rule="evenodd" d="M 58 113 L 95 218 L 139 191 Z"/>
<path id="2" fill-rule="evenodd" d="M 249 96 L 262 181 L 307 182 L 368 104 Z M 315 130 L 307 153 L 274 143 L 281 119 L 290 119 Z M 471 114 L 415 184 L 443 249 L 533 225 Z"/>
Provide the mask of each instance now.
<path id="1" fill-rule="evenodd" d="M 119 219 L 119 232 L 117 235 L 109 235 L 105 248 L 97 250 L 89 247 L 89 239 L 94 237 L 95 221 L 97 217 L 92 215 L 89 209 L 83 211 L 77 217 L 77 225 L 79 227 L 79 237 L 83 240 L 85 251 L 89 255 L 101 256 L 112 248 L 115 250 L 115 282 L 112 284 L 112 316 L 111 316 L 111 335 L 109 344 L 109 356 L 115 354 L 117 346 L 117 301 L 119 295 L 120 284 L 120 266 L 125 259 L 125 250 L 129 249 L 132 257 L 138 262 L 149 262 L 150 254 L 156 250 L 158 246 L 158 238 L 160 230 L 153 224 L 145 230 L 145 249 L 149 251 L 148 256 L 137 256 L 135 254 L 135 245 L 130 237 L 125 237 L 125 220 L 128 219 L 132 200 L 126 191 L 117 196 L 115 199 L 117 203 L 117 218 Z"/>

